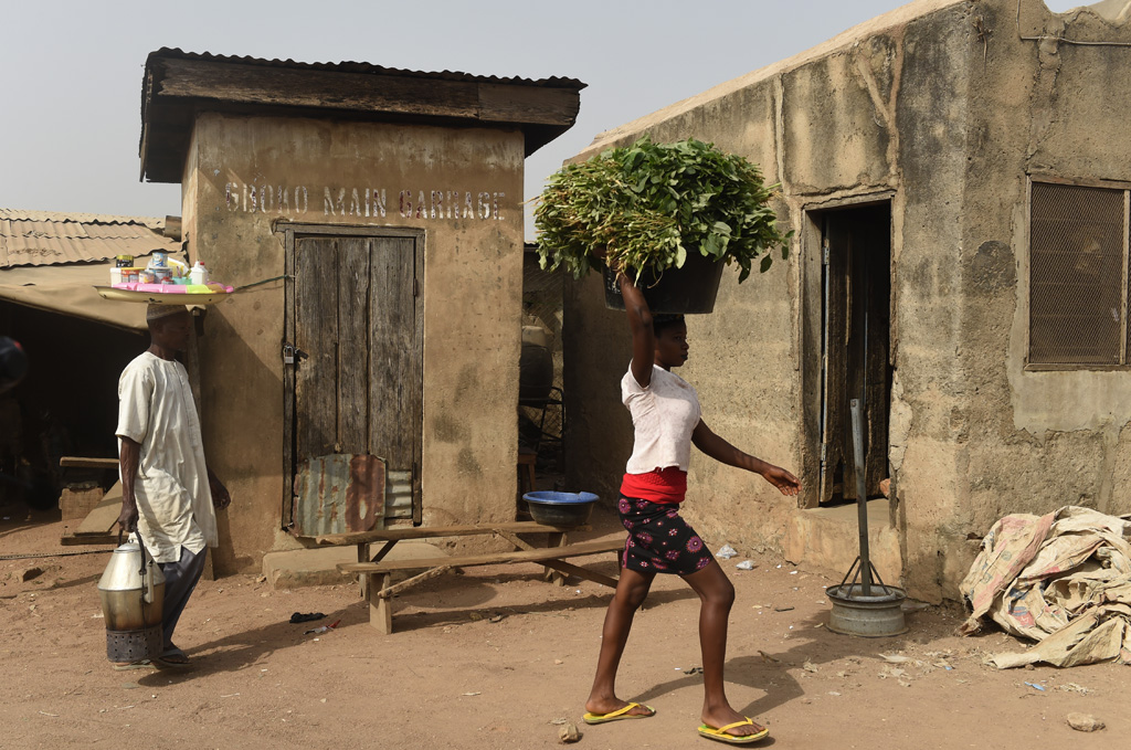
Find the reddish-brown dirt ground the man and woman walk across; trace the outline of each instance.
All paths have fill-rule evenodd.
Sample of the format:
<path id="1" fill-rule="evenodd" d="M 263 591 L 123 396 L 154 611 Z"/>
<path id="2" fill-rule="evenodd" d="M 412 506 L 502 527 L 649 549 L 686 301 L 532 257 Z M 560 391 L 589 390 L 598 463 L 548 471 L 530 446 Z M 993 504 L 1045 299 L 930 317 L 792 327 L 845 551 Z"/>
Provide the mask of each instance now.
<path id="1" fill-rule="evenodd" d="M 58 512 L 3 515 L 0 557 L 85 549 L 59 545 Z M 608 517 L 595 525 L 614 531 Z M 839 581 L 772 558 L 735 570 L 744 559 L 723 561 L 737 589 L 727 690 L 770 727 L 756 747 L 1126 747 L 1125 666 L 994 670 L 986 655 L 1022 645 L 995 630 L 953 636 L 962 613 L 947 606 L 908 613 L 904 636 L 838 636 L 823 623 L 824 587 Z M 352 584 L 202 580 L 178 628 L 193 669 L 115 672 L 96 590 L 106 560 L 0 559 L 0 747 L 549 748 L 566 721 L 580 729 L 580 748 L 718 747 L 696 733 L 699 607 L 677 578 L 657 578 L 618 683 L 657 715 L 586 726 L 611 594 L 596 584 L 553 586 L 533 566 L 469 568 L 398 598 L 397 631 L 381 636 Z M 615 571 L 611 559 L 597 562 Z M 29 568 L 42 572 L 24 580 Z M 293 612 L 327 619 L 291 624 Z M 304 635 L 339 619 L 331 632 Z M 1077 732 L 1065 721 L 1073 712 L 1107 726 Z"/>

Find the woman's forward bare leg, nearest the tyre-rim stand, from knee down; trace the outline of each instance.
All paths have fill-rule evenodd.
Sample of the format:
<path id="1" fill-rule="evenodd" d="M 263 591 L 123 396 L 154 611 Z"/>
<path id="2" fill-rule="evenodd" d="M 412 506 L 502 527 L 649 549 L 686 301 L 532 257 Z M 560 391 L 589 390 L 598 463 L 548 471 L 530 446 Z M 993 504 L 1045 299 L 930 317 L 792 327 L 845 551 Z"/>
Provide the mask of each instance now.
<path id="1" fill-rule="evenodd" d="M 726 699 L 726 688 L 723 683 L 723 670 L 726 662 L 726 629 L 734 604 L 734 586 L 723 572 L 717 562 L 711 562 L 702 570 L 683 576 L 696 594 L 699 595 L 699 647 L 703 658 L 703 710 L 702 722 L 707 726 L 718 729 L 745 717 L 731 707 Z M 731 730 L 729 734 L 756 734 L 761 727 L 749 724 Z"/>

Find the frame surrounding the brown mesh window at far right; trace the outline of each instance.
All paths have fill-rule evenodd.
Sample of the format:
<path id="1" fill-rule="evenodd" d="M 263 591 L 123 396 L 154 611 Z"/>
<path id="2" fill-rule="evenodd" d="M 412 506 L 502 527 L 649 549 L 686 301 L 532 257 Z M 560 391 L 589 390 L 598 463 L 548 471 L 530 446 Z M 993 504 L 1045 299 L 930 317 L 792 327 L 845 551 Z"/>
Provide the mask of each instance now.
<path id="1" fill-rule="evenodd" d="M 1120 338 L 1120 363 L 1119 364 L 1088 364 L 1088 363 L 1051 363 L 1030 362 L 1029 353 L 1033 335 L 1033 183 L 1056 184 L 1072 188 L 1100 188 L 1107 190 L 1119 190 L 1123 193 L 1123 278 L 1121 284 L 1122 311 L 1121 311 L 1121 338 Z M 1117 372 L 1131 370 L 1131 325 L 1128 321 L 1129 313 L 1129 286 L 1131 286 L 1131 181 L 1107 180 L 1102 178 L 1064 178 L 1047 173 L 1028 173 L 1025 181 L 1025 290 L 1022 292 L 1022 304 L 1025 305 L 1025 371 L 1026 372 L 1064 372 L 1064 371 L 1089 371 L 1089 372 Z"/>

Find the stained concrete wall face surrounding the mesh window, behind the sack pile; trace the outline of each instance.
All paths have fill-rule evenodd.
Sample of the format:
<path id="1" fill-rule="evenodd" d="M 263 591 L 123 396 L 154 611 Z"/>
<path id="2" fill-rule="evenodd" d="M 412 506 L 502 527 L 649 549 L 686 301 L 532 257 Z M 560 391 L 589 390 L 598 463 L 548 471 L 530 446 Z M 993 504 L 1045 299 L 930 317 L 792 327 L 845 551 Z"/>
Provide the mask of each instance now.
<path id="1" fill-rule="evenodd" d="M 1131 49 L 1021 40 L 1017 6 L 979 2 L 972 21 L 961 242 L 962 400 L 956 411 L 962 498 L 941 549 L 976 542 L 1009 512 L 1063 505 L 1131 511 L 1131 379 L 1125 371 L 1027 371 L 1027 175 L 1131 180 L 1125 110 Z M 1021 8 L 1020 35 L 1131 42 L 1131 25 L 1088 10 Z M 955 566 L 959 568 L 959 566 Z M 940 581 L 956 596 L 962 570 Z"/>

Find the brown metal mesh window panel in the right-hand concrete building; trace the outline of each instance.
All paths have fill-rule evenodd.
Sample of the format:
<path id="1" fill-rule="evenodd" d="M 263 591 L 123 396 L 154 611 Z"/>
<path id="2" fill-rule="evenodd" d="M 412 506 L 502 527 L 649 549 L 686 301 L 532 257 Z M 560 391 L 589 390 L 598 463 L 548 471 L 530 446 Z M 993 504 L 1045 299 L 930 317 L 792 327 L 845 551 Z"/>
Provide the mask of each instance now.
<path id="1" fill-rule="evenodd" d="M 1030 365 L 1128 364 L 1129 191 L 1031 183 Z"/>

